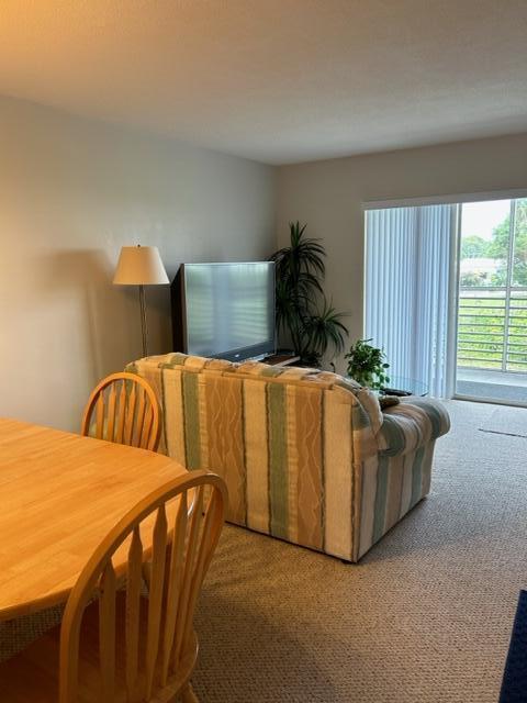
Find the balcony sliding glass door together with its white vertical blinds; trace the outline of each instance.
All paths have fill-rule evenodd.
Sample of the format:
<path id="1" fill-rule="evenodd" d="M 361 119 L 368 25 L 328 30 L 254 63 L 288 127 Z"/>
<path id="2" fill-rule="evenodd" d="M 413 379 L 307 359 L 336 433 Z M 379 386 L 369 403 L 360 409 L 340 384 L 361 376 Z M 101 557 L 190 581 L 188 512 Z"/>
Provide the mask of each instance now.
<path id="1" fill-rule="evenodd" d="M 367 210 L 365 336 L 392 387 L 527 405 L 527 198 Z"/>

